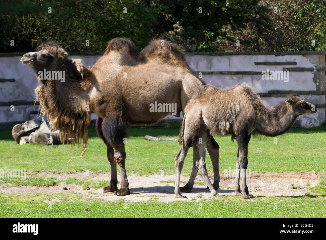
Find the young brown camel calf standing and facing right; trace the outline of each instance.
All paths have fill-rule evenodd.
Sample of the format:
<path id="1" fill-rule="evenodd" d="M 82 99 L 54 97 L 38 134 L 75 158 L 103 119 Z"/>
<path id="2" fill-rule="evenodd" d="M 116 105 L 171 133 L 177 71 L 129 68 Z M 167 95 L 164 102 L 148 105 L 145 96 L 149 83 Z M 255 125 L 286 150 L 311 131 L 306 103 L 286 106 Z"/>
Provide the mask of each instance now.
<path id="1" fill-rule="evenodd" d="M 179 134 L 180 144 L 183 132 L 185 134 L 180 151 L 175 157 L 176 181 L 174 193 L 179 198 L 185 198 L 180 193 L 180 173 L 188 149 L 196 144 L 198 149 L 197 169 L 205 178 L 213 196 L 219 196 L 207 174 L 205 147 L 211 135 L 231 134 L 232 141 L 236 139 L 238 143 L 235 193 L 236 195 L 242 195 L 244 199 L 253 198 L 253 195 L 248 192 L 245 180 L 248 165 L 248 143 L 251 132 L 256 129 L 258 133 L 265 136 L 278 136 L 288 131 L 299 115 L 316 112 L 315 106 L 302 100 L 298 94 L 290 94 L 287 100 L 268 109 L 262 104 L 259 96 L 246 84 L 236 85 L 224 90 L 217 90 L 213 87 L 205 88 L 200 95 L 191 99 L 185 107 L 185 116 Z M 242 193 L 240 192 L 239 183 L 240 171 Z M 191 188 L 196 174 L 197 171 L 191 173 L 188 182 Z"/>

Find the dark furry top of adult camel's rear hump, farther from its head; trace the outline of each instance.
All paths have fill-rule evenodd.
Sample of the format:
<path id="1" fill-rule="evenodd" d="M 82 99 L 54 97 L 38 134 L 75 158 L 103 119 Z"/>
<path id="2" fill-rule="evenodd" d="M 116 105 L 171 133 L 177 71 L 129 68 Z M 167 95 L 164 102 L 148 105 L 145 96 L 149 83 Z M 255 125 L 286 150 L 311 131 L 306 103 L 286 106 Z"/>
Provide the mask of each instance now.
<path id="1" fill-rule="evenodd" d="M 189 68 L 184 50 L 173 42 L 163 39 L 153 39 L 142 51 L 146 58 L 158 58 L 170 65 L 183 65 Z"/>

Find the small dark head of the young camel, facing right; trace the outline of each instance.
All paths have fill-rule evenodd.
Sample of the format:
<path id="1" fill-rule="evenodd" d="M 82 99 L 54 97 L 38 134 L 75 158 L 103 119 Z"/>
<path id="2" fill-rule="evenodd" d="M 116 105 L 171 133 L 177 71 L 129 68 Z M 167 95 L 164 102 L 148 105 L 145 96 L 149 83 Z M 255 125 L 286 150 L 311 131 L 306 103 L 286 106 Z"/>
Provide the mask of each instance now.
<path id="1" fill-rule="evenodd" d="M 285 100 L 285 103 L 288 104 L 289 107 L 292 107 L 296 115 L 313 114 L 317 112 L 315 105 L 302 100 L 299 94 L 290 94 L 288 99 Z"/>

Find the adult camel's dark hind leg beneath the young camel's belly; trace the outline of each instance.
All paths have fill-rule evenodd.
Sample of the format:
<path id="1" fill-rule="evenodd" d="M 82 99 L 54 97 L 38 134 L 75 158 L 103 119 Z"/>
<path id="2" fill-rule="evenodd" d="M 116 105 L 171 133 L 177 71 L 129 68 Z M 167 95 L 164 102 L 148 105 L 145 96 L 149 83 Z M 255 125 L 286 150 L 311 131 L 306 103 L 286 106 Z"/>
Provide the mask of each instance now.
<path id="1" fill-rule="evenodd" d="M 213 187 L 215 190 L 220 188 L 220 172 L 218 168 L 218 157 L 219 157 L 219 149 L 220 146 L 215 141 L 214 137 L 211 136 L 208 144 L 207 144 L 207 151 L 209 156 L 211 157 L 212 165 L 213 165 L 213 172 L 214 172 L 214 181 L 213 181 Z M 207 186 L 207 189 L 209 187 Z"/>

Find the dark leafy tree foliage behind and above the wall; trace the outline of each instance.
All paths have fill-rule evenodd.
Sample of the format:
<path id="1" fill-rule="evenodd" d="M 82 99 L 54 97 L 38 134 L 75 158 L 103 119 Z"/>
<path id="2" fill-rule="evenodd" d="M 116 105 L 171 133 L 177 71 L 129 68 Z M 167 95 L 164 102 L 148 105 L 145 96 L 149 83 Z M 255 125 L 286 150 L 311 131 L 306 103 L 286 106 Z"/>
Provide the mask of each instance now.
<path id="1" fill-rule="evenodd" d="M 0 0 L 0 52 L 47 40 L 102 52 L 115 37 L 139 50 L 155 37 L 186 51 L 326 50 L 325 16 L 324 0 Z"/>

